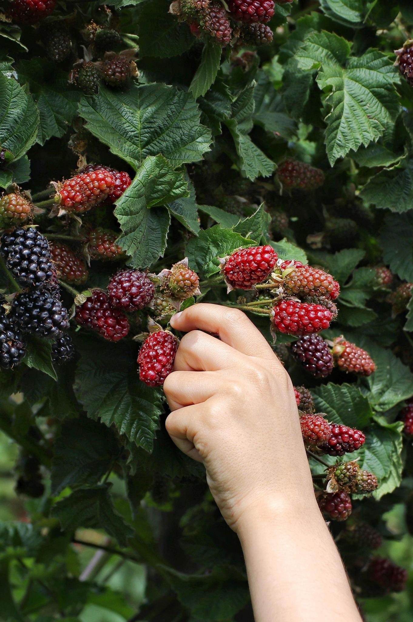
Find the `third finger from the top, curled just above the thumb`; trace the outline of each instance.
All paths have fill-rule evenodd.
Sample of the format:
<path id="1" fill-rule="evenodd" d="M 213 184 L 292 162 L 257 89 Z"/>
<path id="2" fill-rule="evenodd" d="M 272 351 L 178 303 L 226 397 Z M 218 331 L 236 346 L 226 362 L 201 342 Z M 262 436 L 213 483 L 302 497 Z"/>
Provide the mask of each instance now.
<path id="1" fill-rule="evenodd" d="M 171 411 L 183 406 L 201 404 L 222 388 L 222 380 L 214 371 L 173 371 L 163 384 Z"/>

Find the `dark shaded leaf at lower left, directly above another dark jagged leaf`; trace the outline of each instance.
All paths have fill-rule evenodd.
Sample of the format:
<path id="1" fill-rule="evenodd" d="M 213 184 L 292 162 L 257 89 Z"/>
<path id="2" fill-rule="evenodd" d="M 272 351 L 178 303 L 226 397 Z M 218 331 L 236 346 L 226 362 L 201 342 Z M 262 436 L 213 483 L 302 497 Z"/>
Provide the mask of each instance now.
<path id="1" fill-rule="evenodd" d="M 54 445 L 52 494 L 66 486 L 97 484 L 117 455 L 116 439 L 106 426 L 86 418 L 65 421 Z"/>

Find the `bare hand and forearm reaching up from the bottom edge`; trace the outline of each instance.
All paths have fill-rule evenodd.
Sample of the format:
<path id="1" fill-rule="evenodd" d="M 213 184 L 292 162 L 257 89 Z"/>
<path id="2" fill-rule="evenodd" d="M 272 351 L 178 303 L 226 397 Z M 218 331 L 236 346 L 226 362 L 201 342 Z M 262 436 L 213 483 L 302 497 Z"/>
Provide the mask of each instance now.
<path id="1" fill-rule="evenodd" d="M 271 346 L 244 313 L 219 305 L 193 305 L 171 326 L 186 335 L 164 384 L 166 429 L 204 463 L 240 539 L 256 622 L 361 622 L 315 501 L 293 384 Z"/>

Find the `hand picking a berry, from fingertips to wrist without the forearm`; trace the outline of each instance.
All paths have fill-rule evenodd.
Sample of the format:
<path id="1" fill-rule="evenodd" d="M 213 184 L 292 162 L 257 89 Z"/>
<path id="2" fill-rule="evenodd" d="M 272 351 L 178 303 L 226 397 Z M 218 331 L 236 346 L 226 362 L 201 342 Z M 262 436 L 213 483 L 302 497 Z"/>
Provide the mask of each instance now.
<path id="1" fill-rule="evenodd" d="M 293 384 L 263 335 L 244 313 L 213 304 L 171 325 L 187 334 L 163 386 L 166 429 L 206 466 L 225 521 L 238 531 L 257 507 L 317 508 Z"/>

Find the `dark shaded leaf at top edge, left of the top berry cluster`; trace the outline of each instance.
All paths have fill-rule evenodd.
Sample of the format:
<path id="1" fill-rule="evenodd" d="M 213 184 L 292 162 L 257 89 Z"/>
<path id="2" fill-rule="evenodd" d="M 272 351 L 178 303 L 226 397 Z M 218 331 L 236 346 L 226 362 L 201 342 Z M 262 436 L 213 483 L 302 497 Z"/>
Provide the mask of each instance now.
<path id="1" fill-rule="evenodd" d="M 130 2 L 132 4 L 132 2 Z M 167 58 L 189 50 L 194 37 L 188 24 L 168 12 L 165 0 L 146 2 L 138 21 L 139 56 Z"/>

